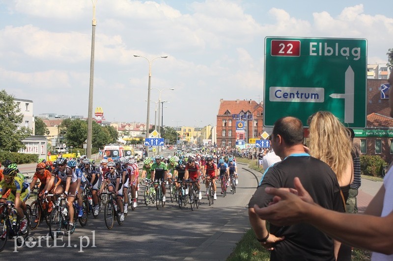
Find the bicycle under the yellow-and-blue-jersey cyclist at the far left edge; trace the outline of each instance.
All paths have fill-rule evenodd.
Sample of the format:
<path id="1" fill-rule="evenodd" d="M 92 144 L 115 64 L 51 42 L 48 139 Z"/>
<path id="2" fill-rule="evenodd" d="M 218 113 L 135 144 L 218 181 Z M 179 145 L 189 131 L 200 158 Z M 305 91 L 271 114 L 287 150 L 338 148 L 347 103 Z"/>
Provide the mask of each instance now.
<path id="1" fill-rule="evenodd" d="M 16 214 L 14 207 L 13 203 L 0 203 L 0 252 L 3 251 L 8 238 L 17 237 L 17 245 L 22 246 L 25 238 L 28 237 L 30 228 L 26 226 L 26 230 L 24 232 L 21 231 L 21 218 Z M 23 214 L 25 214 L 29 224 L 30 216 L 28 212 L 23 211 Z M 15 222 L 14 215 L 16 215 Z"/>

